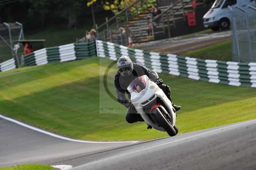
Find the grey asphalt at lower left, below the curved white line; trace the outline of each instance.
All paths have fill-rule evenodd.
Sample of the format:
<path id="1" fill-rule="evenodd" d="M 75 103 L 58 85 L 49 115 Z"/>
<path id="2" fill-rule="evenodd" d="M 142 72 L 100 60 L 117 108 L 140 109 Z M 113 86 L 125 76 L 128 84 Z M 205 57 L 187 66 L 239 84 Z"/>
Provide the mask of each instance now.
<path id="1" fill-rule="evenodd" d="M 0 118 L 0 167 L 98 151 L 129 143 L 71 142 Z"/>

